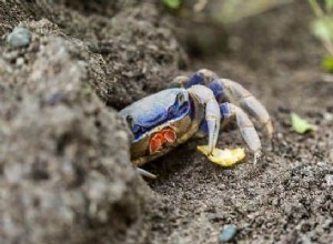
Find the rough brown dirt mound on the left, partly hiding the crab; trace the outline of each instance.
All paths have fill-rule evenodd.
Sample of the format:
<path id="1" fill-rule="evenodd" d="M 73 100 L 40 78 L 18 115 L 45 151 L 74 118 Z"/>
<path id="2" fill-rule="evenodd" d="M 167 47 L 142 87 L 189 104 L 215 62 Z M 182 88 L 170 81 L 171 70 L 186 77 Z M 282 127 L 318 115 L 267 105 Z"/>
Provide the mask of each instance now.
<path id="1" fill-rule="evenodd" d="M 145 95 L 148 81 L 178 69 L 180 49 L 140 14 L 147 8 L 158 21 L 151 4 L 110 3 L 102 11 L 110 18 L 61 3 L 0 3 L 0 242 L 145 242 L 152 192 L 105 103 Z M 17 26 L 31 32 L 27 48 L 6 41 Z"/>

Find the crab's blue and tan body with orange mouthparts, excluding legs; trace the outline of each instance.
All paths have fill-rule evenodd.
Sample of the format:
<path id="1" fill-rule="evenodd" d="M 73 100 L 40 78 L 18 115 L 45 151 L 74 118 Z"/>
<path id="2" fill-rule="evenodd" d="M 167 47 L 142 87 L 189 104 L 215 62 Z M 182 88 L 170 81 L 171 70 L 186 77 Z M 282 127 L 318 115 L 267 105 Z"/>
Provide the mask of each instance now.
<path id="1" fill-rule="evenodd" d="M 132 162 L 142 165 L 185 142 L 199 128 L 185 89 L 168 89 L 120 111 L 133 134 Z"/>

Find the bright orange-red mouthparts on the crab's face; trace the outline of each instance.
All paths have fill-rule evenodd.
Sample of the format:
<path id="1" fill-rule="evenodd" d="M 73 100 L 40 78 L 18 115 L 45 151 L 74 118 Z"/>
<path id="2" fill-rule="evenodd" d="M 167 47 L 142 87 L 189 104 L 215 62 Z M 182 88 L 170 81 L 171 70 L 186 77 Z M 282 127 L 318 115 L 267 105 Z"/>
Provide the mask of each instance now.
<path id="1" fill-rule="evenodd" d="M 154 133 L 149 143 L 149 152 L 155 153 L 162 149 L 167 143 L 173 143 L 176 140 L 176 134 L 173 129 L 164 128 Z"/>

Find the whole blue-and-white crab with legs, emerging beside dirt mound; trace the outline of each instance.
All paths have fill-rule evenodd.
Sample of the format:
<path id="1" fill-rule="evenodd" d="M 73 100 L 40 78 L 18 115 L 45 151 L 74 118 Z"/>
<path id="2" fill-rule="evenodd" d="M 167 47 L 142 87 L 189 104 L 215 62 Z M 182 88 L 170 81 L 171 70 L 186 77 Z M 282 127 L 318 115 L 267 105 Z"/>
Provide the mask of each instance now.
<path id="1" fill-rule="evenodd" d="M 176 77 L 169 89 L 143 98 L 120 111 L 133 138 L 131 160 L 140 174 L 154 177 L 139 167 L 155 160 L 189 139 L 208 134 L 212 153 L 220 125 L 235 118 L 243 140 L 254 156 L 261 154 L 261 141 L 249 115 L 272 136 L 273 126 L 266 109 L 235 81 L 220 79 L 202 69 L 192 77 Z"/>

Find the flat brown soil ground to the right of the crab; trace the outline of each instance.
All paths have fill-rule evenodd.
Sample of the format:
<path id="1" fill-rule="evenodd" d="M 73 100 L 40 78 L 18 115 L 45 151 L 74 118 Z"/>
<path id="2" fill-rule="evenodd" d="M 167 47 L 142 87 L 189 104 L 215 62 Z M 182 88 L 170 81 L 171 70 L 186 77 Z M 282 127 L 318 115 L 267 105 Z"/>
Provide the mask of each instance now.
<path id="1" fill-rule="evenodd" d="M 225 224 L 236 243 L 332 243 L 333 83 L 319 70 L 322 47 L 309 32 L 312 12 L 293 3 L 233 24 L 229 52 L 192 60 L 239 81 L 270 111 L 273 150 L 253 164 L 221 169 L 192 141 L 149 165 L 159 175 L 151 187 L 168 207 L 154 220 L 155 243 L 216 243 Z M 236 43 L 236 48 L 233 48 Z M 289 111 L 319 125 L 316 133 L 291 131 Z M 222 132 L 219 148 L 243 145 L 236 130 Z"/>

